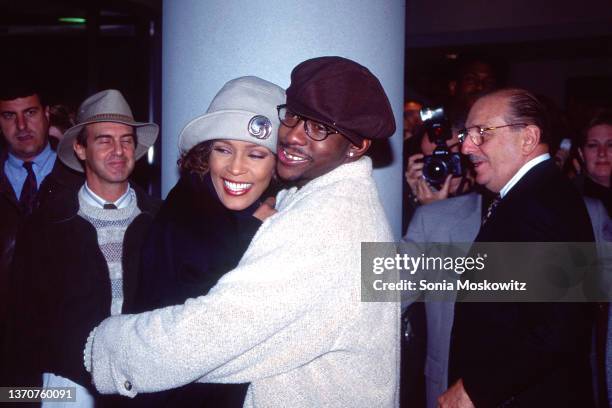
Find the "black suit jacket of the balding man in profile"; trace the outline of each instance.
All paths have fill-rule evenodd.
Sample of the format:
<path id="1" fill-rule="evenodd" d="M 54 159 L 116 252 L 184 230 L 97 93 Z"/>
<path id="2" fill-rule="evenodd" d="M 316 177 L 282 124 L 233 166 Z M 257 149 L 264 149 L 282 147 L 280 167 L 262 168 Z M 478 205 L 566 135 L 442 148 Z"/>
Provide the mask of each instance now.
<path id="1" fill-rule="evenodd" d="M 552 160 L 530 169 L 477 242 L 588 242 L 584 201 Z M 590 407 L 588 303 L 457 303 L 449 384 L 463 378 L 476 407 Z"/>

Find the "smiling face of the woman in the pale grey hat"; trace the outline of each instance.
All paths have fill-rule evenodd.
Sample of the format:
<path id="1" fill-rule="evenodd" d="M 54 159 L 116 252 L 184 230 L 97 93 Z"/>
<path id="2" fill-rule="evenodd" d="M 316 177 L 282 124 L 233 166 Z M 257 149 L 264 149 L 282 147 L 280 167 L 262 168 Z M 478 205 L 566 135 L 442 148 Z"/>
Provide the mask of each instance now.
<path id="1" fill-rule="evenodd" d="M 270 185 L 276 157 L 267 148 L 238 140 L 215 140 L 209 156 L 210 177 L 219 200 L 230 210 L 253 204 Z"/>

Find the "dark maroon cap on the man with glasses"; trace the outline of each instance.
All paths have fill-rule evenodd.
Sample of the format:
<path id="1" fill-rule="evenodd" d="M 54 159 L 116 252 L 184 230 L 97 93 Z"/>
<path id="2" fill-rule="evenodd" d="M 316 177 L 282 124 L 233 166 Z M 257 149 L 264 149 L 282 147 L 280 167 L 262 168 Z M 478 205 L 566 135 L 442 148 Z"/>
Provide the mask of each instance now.
<path id="1" fill-rule="evenodd" d="M 356 145 L 395 133 L 393 111 L 380 81 L 346 58 L 313 58 L 295 67 L 287 108 L 332 126 Z"/>

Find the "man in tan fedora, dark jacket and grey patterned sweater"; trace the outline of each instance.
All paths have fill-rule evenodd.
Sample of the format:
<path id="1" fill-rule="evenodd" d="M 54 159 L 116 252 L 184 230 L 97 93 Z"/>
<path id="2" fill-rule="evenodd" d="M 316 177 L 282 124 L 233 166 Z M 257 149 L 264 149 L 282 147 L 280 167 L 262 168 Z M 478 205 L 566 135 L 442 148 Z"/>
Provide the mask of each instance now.
<path id="1" fill-rule="evenodd" d="M 134 120 L 117 90 L 80 106 L 58 157 L 85 171 L 86 181 L 47 202 L 17 242 L 7 376 L 13 385 L 76 387 L 76 406 L 94 405 L 79 351 L 96 324 L 120 314 L 136 291 L 140 245 L 158 203 L 128 177 L 157 134 L 157 125 Z"/>

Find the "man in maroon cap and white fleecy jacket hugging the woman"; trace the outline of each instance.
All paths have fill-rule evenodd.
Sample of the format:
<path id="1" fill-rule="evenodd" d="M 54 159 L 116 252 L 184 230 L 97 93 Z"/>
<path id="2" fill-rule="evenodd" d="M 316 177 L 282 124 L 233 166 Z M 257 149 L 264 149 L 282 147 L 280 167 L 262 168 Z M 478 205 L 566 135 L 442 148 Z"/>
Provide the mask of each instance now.
<path id="1" fill-rule="evenodd" d="M 387 96 L 361 65 L 315 58 L 278 111 L 278 172 L 296 186 L 208 294 L 95 329 L 100 392 L 250 383 L 244 407 L 398 406 L 399 303 L 361 301 L 361 243 L 393 240 L 363 156 L 395 131 Z"/>

